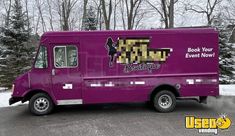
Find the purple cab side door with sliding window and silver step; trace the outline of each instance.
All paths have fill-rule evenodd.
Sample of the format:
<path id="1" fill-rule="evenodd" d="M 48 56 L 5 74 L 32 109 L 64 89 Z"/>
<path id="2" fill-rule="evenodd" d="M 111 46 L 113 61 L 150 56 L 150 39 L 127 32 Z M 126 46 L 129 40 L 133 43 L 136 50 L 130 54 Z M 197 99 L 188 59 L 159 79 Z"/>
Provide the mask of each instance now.
<path id="1" fill-rule="evenodd" d="M 51 46 L 52 86 L 58 105 L 82 104 L 82 79 L 79 67 L 78 44 Z"/>

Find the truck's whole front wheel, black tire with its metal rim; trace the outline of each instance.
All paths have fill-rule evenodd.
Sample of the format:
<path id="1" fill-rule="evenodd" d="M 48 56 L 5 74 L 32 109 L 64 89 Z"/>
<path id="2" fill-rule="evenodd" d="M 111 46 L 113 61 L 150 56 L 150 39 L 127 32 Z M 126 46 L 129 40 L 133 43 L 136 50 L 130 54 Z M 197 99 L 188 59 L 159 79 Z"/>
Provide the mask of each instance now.
<path id="1" fill-rule="evenodd" d="M 35 94 L 29 101 L 30 112 L 37 116 L 47 115 L 52 112 L 53 108 L 53 101 L 45 93 Z"/>

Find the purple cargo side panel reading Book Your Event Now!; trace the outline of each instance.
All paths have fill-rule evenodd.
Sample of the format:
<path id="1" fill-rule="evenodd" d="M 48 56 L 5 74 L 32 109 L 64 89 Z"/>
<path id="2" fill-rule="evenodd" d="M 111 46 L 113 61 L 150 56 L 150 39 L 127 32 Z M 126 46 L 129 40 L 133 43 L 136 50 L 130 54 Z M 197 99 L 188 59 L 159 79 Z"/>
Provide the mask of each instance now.
<path id="1" fill-rule="evenodd" d="M 160 61 L 119 63 L 120 52 L 107 49 L 108 39 L 118 48 L 120 39 L 149 39 L 147 51 L 172 49 Z M 147 101 L 160 84 L 180 85 L 181 96 L 217 96 L 218 34 L 216 32 L 107 33 L 82 39 L 83 99 L 85 103 Z M 89 40 L 93 39 L 93 40 Z M 127 44 L 125 41 L 124 44 Z M 132 46 L 135 41 L 131 41 Z M 111 47 L 112 48 L 112 47 Z M 133 49 L 135 50 L 135 49 Z M 133 51 L 132 50 L 132 51 Z M 163 51 L 164 53 L 164 51 Z M 164 57 L 165 56 L 165 57 Z M 137 58 L 138 59 L 138 58 Z M 147 64 L 147 65 L 143 65 Z M 156 65 L 149 65 L 156 64 Z"/>

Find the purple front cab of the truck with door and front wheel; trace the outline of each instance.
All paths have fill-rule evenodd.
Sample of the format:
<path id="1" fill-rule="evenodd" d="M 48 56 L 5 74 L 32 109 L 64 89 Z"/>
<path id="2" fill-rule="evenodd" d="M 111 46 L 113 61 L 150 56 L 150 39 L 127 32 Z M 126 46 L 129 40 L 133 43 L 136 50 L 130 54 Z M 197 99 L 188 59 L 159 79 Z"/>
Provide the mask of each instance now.
<path id="1" fill-rule="evenodd" d="M 81 104 L 79 43 L 67 40 L 70 42 L 52 43 L 48 42 L 48 37 L 41 38 L 32 69 L 13 83 L 9 104 L 35 99 L 29 105 L 31 112 L 36 114 L 45 114 L 52 105 Z"/>

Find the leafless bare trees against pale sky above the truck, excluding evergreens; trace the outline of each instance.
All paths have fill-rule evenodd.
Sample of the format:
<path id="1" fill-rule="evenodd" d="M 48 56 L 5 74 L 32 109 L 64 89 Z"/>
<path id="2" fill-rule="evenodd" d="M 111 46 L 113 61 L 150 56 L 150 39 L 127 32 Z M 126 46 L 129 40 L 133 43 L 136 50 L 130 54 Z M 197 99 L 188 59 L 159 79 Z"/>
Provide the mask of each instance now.
<path id="1" fill-rule="evenodd" d="M 184 15 L 211 25 L 218 14 L 234 24 L 234 0 L 19 0 L 33 33 L 86 30 L 89 18 L 97 30 L 151 29 L 184 26 Z M 0 2 L 0 25 L 7 25 L 14 0 Z M 92 13 L 92 14 L 90 14 Z M 91 16 L 92 15 L 92 16 Z M 201 15 L 201 16 L 200 16 Z M 152 18 L 152 20 L 149 20 Z M 180 18 L 182 24 L 176 24 Z M 4 21 L 3 21 L 4 20 Z M 179 20 L 179 19 L 178 19 Z M 148 21 L 158 25 L 148 26 Z M 150 23 L 151 23 L 150 22 Z M 175 23 L 176 22 L 176 23 Z"/>

